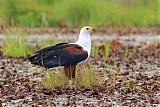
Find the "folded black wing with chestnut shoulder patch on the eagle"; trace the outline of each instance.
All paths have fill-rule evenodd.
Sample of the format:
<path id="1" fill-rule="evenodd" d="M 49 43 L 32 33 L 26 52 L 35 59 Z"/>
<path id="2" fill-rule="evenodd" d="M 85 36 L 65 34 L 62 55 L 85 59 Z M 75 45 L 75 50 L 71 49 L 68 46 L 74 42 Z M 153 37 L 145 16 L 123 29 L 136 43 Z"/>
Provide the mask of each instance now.
<path id="1" fill-rule="evenodd" d="M 76 65 L 88 58 L 88 53 L 76 44 L 61 43 L 44 48 L 28 58 L 32 64 L 46 68 Z"/>

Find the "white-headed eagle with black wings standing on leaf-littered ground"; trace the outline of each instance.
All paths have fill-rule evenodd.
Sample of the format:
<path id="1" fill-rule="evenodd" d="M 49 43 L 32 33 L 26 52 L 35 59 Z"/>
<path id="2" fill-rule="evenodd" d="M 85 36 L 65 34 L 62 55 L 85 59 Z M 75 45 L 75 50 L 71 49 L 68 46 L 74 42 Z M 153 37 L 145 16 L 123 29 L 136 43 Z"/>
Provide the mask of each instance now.
<path id="1" fill-rule="evenodd" d="M 91 52 L 91 33 L 96 29 L 85 26 L 80 30 L 78 40 L 74 43 L 58 43 L 48 46 L 28 59 L 31 64 L 45 68 L 64 66 L 65 75 L 75 78 L 76 66 L 88 60 Z"/>

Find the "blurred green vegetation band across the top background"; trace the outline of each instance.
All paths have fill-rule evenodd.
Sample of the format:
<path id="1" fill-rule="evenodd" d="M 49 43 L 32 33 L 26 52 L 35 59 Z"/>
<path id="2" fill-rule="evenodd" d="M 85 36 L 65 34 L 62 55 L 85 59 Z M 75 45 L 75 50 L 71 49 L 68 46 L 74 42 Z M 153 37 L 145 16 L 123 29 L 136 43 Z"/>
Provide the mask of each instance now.
<path id="1" fill-rule="evenodd" d="M 0 20 L 25 27 L 159 26 L 159 0 L 1 0 Z"/>

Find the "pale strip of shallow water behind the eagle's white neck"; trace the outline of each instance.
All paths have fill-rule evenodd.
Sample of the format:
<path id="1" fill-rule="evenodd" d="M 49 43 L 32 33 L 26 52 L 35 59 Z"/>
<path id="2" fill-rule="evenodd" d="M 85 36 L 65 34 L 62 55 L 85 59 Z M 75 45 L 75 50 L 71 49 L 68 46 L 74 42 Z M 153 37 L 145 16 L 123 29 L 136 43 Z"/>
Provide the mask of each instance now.
<path id="1" fill-rule="evenodd" d="M 0 34 L 0 41 L 2 41 L 4 39 L 4 34 Z M 14 38 L 14 36 L 11 36 Z M 44 34 L 44 35 L 28 35 L 27 39 L 29 41 L 31 40 L 45 40 L 48 38 L 56 38 L 56 39 L 64 39 L 64 40 L 77 40 L 78 36 L 77 35 L 49 35 L 49 34 Z M 134 34 L 130 34 L 130 35 L 124 35 L 124 36 L 118 36 L 118 35 L 93 35 L 91 36 L 93 41 L 103 41 L 103 40 L 112 40 L 112 39 L 119 39 L 122 41 L 138 41 L 138 42 L 160 42 L 160 35 L 134 35 Z"/>

